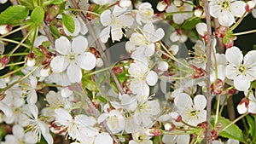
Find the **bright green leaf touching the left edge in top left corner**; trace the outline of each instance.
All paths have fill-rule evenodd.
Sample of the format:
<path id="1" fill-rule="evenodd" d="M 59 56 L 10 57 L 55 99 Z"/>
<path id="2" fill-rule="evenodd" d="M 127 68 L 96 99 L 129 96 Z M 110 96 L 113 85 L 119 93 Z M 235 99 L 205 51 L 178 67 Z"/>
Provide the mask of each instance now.
<path id="1" fill-rule="evenodd" d="M 0 14 L 0 25 L 16 24 L 26 19 L 29 9 L 22 5 L 10 6 Z"/>

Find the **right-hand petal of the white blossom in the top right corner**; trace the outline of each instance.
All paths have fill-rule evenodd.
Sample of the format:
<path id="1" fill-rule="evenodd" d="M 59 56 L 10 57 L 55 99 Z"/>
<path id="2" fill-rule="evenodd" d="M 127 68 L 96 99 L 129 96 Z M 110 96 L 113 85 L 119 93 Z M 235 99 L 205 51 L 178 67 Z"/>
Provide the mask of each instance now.
<path id="1" fill-rule="evenodd" d="M 241 15 L 246 12 L 246 3 L 242 1 L 235 1 L 231 3 L 230 7 L 231 13 L 236 17 L 241 17 Z"/>

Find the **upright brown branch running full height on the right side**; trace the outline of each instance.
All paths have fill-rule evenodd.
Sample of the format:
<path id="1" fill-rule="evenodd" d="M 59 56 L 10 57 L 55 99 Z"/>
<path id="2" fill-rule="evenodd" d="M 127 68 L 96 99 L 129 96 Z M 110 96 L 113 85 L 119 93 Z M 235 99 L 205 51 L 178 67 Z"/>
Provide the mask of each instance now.
<path id="1" fill-rule="evenodd" d="M 204 0 L 204 7 L 207 19 L 207 144 L 212 143 L 210 118 L 211 118 L 211 108 L 212 108 L 212 93 L 211 93 L 211 81 L 210 81 L 210 68 L 211 68 L 211 57 L 212 57 L 212 27 L 211 27 L 211 17 L 209 13 L 209 3 L 208 0 Z"/>

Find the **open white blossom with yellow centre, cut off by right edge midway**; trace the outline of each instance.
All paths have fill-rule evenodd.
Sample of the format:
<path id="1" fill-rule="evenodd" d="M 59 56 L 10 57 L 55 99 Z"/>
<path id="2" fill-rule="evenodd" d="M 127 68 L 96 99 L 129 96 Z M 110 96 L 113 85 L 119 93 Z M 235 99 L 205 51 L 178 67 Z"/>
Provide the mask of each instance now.
<path id="1" fill-rule="evenodd" d="M 249 89 L 250 82 L 256 78 L 256 50 L 249 51 L 243 57 L 241 50 L 234 46 L 227 49 L 225 55 L 229 62 L 226 66 L 226 77 L 234 80 L 236 89 Z"/>

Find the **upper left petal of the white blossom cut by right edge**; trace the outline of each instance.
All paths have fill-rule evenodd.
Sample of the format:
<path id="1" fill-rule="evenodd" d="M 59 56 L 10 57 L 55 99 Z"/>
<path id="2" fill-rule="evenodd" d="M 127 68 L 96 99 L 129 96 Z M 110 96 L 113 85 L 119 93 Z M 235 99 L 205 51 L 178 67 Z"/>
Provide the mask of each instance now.
<path id="1" fill-rule="evenodd" d="M 227 49 L 225 55 L 230 64 L 235 66 L 241 65 L 243 55 L 241 54 L 241 50 L 237 47 L 231 47 L 230 49 Z"/>

